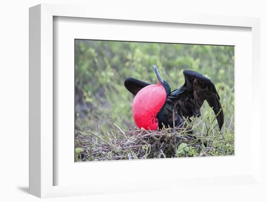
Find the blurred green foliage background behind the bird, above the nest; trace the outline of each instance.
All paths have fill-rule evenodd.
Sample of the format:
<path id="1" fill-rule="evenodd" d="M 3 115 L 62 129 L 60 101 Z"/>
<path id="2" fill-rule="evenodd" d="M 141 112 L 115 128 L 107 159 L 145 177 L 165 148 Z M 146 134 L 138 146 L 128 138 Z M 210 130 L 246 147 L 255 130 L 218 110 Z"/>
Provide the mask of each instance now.
<path id="1" fill-rule="evenodd" d="M 151 84 L 158 67 L 171 90 L 184 84 L 183 70 L 211 79 L 224 106 L 224 132 L 234 131 L 234 47 L 121 41 L 75 40 L 75 129 L 107 132 L 115 122 L 121 129 L 135 126 L 133 95 L 127 77 Z M 201 118 L 208 110 L 201 108 Z M 97 129 L 98 125 L 98 129 Z M 200 130 L 204 126 L 200 125 Z"/>

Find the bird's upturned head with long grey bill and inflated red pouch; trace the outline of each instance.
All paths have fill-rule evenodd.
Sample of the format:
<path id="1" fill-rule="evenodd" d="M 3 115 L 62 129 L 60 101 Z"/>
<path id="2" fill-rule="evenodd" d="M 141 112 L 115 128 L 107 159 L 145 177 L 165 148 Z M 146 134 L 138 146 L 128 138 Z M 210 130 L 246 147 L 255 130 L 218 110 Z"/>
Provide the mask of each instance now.
<path id="1" fill-rule="evenodd" d="M 158 69 L 152 65 L 159 80 L 158 84 L 151 84 L 142 88 L 134 97 L 133 116 L 138 128 L 157 130 L 157 114 L 166 102 L 170 93 L 170 86 L 160 77 Z"/>

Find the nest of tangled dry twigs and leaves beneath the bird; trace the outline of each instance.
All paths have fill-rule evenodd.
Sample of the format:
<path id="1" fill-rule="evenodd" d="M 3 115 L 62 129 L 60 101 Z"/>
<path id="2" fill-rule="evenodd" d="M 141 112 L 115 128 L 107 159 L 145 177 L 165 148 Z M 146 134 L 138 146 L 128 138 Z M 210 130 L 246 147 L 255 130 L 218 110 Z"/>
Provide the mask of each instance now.
<path id="1" fill-rule="evenodd" d="M 217 142 L 229 141 L 224 135 L 195 134 L 190 127 L 123 131 L 115 126 L 117 130 L 105 135 L 76 131 L 76 161 L 206 156 L 213 155 L 210 151 L 216 151 Z"/>

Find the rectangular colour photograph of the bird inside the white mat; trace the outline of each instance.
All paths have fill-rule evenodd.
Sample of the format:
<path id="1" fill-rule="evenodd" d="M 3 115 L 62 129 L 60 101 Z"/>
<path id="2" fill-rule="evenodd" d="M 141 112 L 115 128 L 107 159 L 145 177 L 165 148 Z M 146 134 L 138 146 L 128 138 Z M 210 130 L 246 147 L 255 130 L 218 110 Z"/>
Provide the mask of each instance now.
<path id="1" fill-rule="evenodd" d="M 74 43 L 75 162 L 234 155 L 234 46 Z"/>

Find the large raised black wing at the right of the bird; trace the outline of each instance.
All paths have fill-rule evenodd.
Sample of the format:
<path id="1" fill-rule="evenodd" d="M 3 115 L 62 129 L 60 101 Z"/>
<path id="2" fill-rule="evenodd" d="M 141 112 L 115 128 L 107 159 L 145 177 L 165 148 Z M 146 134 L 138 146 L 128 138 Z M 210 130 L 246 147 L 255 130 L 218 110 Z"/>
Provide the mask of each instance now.
<path id="1" fill-rule="evenodd" d="M 206 100 L 217 115 L 216 118 L 221 129 L 224 117 L 215 85 L 210 79 L 192 70 L 184 70 L 184 78 L 184 85 L 172 91 L 167 100 L 175 103 L 178 114 L 184 117 L 201 116 L 200 108 Z"/>

